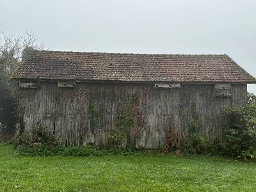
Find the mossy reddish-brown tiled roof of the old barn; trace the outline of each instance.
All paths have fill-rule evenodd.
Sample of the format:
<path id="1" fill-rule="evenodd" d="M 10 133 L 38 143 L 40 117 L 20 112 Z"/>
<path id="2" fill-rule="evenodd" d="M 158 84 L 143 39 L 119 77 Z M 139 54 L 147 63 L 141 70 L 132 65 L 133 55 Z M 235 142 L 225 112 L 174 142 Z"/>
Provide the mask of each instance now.
<path id="1" fill-rule="evenodd" d="M 227 54 L 120 54 L 35 51 L 17 79 L 255 83 Z"/>

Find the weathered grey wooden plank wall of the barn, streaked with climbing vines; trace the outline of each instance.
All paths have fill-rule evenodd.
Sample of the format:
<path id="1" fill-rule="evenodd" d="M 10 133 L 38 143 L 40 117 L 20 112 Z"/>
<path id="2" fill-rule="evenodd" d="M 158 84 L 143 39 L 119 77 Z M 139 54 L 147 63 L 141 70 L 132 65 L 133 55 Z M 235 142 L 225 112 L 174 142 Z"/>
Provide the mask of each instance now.
<path id="1" fill-rule="evenodd" d="M 162 148 L 166 139 L 180 142 L 192 132 L 221 139 L 224 109 L 243 104 L 246 89 L 246 84 L 232 84 L 232 97 L 214 97 L 214 84 L 154 89 L 154 84 L 77 83 L 76 88 L 58 88 L 55 82 L 22 90 L 20 103 L 26 130 L 42 123 L 63 145 L 118 141 L 123 147 Z M 198 130 L 191 129 L 195 122 Z"/>

